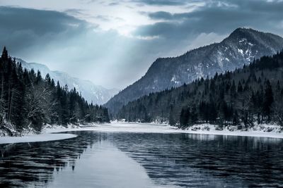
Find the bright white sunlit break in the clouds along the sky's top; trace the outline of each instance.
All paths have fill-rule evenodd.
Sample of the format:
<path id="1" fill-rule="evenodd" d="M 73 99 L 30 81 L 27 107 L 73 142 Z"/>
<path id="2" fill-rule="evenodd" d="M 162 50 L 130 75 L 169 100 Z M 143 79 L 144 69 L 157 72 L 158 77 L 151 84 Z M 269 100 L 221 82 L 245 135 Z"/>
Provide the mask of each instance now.
<path id="1" fill-rule="evenodd" d="M 166 11 L 170 13 L 182 13 L 193 11 L 204 2 L 187 3 L 185 6 L 161 4 L 141 4 L 139 1 L 91 1 L 91 0 L 0 0 L 1 6 L 16 6 L 35 8 L 40 10 L 52 10 L 65 12 L 68 15 L 86 20 L 88 23 L 97 25 L 101 30 L 117 30 L 121 35 L 132 37 L 131 32 L 140 25 L 157 23 L 142 13 Z"/>

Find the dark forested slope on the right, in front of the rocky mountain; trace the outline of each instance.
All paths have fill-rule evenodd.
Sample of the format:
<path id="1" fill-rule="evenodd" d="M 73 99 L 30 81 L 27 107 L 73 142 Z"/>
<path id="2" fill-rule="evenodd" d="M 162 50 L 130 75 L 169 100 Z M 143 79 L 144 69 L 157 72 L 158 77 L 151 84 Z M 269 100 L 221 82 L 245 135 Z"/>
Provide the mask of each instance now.
<path id="1" fill-rule="evenodd" d="M 283 126 L 283 51 L 233 72 L 148 94 L 123 106 L 118 117 L 180 127 L 198 123 Z"/>

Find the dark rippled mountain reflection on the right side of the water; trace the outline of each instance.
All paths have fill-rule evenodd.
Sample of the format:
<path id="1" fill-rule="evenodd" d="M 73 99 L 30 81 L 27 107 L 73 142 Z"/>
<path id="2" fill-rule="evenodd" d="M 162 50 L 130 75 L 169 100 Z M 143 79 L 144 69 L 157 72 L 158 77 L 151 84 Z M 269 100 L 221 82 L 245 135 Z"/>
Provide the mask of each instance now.
<path id="1" fill-rule="evenodd" d="M 209 134 L 112 134 L 159 184 L 283 186 L 282 139 Z"/>

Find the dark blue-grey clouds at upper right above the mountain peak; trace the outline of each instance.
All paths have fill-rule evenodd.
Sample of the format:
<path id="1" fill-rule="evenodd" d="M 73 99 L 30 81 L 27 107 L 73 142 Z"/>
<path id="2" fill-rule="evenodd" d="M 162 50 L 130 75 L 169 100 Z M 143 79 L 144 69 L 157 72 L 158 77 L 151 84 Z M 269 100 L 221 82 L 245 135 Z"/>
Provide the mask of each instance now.
<path id="1" fill-rule="evenodd" d="M 161 22 L 141 26 L 135 35 L 181 39 L 192 33 L 202 32 L 222 35 L 236 27 L 253 27 L 282 35 L 282 10 L 283 1 L 209 1 L 206 6 L 192 12 L 149 13 L 149 18 Z"/>

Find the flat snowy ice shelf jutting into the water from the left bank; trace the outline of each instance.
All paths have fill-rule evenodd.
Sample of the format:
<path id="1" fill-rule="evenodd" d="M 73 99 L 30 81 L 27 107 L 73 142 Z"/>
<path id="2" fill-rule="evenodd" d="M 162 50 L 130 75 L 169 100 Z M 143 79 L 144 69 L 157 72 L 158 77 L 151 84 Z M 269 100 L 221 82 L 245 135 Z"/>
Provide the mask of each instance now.
<path id="1" fill-rule="evenodd" d="M 0 144 L 46 142 L 77 137 L 76 134 L 34 134 L 23 137 L 0 137 Z"/>

